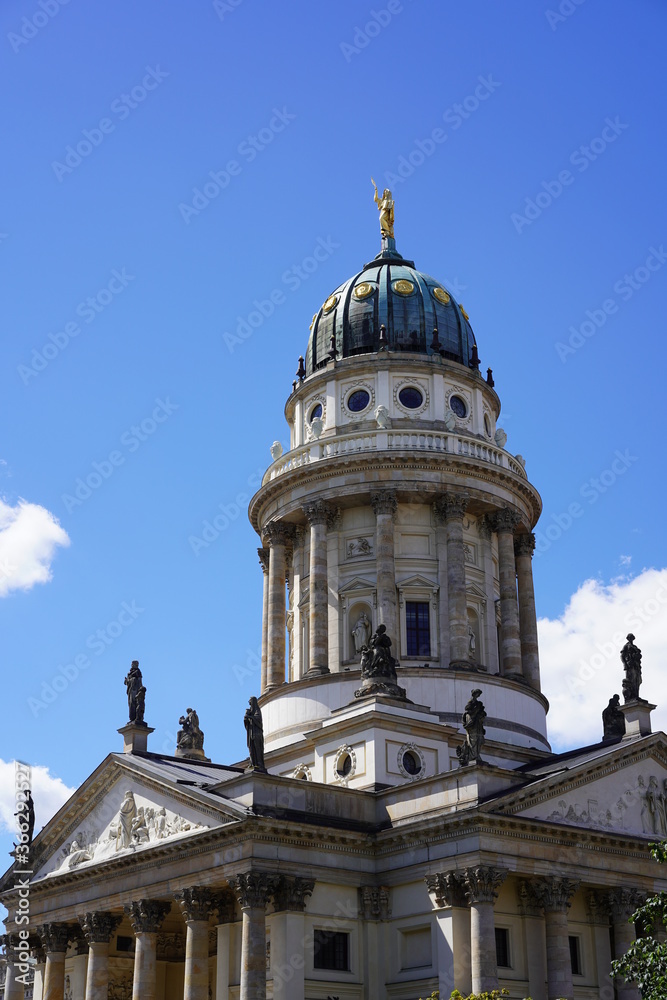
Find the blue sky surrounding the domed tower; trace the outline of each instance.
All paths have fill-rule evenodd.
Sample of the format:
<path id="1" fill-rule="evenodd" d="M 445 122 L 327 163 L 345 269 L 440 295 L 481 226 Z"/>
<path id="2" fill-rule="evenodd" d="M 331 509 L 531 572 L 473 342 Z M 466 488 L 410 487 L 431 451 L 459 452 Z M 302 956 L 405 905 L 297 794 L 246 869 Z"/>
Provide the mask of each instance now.
<path id="1" fill-rule="evenodd" d="M 379 249 L 371 176 L 398 249 L 470 314 L 544 499 L 540 615 L 577 657 L 600 620 L 593 601 L 572 624 L 577 595 L 612 619 L 627 588 L 652 600 L 664 4 L 7 0 L 0 22 L 0 757 L 50 769 L 42 820 L 56 779 L 120 747 L 133 658 L 153 749 L 193 704 L 208 753 L 244 755 L 262 587 L 245 509 L 287 445 L 312 314 Z M 193 545 L 220 505 L 227 528 Z M 637 630 L 653 700 L 656 600 Z M 584 721 L 619 687 L 615 656 L 605 670 Z"/>

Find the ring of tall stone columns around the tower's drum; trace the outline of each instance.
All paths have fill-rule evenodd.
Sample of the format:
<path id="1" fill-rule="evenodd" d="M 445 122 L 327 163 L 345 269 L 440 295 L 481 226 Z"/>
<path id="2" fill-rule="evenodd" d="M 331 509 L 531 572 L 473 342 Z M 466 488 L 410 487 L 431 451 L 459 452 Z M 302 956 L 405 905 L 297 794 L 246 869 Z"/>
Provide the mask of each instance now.
<path id="1" fill-rule="evenodd" d="M 375 514 L 376 590 L 378 623 L 387 628 L 394 642 L 398 638 L 396 587 L 395 520 L 396 492 L 381 489 L 370 495 Z M 440 662 L 452 669 L 470 666 L 468 597 L 466 590 L 463 521 L 469 507 L 465 492 L 450 491 L 433 503 L 438 559 Z M 324 500 L 305 504 L 302 514 L 310 539 L 308 598 L 309 669 L 307 676 L 329 672 L 329 584 L 327 568 L 327 528 L 336 521 L 337 509 Z M 500 672 L 535 690 L 540 689 L 537 644 L 537 615 L 533 588 L 532 554 L 535 537 L 517 532 L 520 515 L 500 508 L 478 520 L 482 540 L 482 562 L 487 594 L 494 589 L 491 538 L 498 540 L 500 584 Z M 266 547 L 258 549 L 264 572 L 262 628 L 262 693 L 285 682 L 285 580 L 290 553 L 298 527 L 272 521 L 264 529 Z M 491 597 L 492 600 L 492 597 Z M 493 657 L 497 647 L 495 614 L 486 615 L 485 646 Z M 489 664 L 493 666 L 492 662 Z"/>

